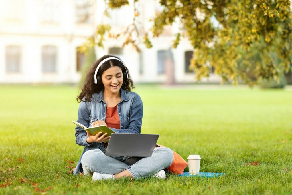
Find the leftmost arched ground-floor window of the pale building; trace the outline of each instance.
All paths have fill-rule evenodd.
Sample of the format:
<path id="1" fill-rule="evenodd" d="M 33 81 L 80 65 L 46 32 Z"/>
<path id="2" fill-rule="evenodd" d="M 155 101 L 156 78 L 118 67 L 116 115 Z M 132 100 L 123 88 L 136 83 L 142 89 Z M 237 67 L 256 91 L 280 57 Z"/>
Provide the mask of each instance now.
<path id="1" fill-rule="evenodd" d="M 6 46 L 6 72 L 20 72 L 21 68 L 21 47 Z"/>

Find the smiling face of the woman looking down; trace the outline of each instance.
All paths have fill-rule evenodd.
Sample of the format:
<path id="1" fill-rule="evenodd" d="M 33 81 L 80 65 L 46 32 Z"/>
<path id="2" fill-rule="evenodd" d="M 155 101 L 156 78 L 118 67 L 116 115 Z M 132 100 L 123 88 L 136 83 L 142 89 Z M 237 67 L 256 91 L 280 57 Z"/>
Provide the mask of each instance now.
<path id="1" fill-rule="evenodd" d="M 123 73 L 119 66 L 112 66 L 101 75 L 101 80 L 105 90 L 118 93 L 123 84 Z"/>

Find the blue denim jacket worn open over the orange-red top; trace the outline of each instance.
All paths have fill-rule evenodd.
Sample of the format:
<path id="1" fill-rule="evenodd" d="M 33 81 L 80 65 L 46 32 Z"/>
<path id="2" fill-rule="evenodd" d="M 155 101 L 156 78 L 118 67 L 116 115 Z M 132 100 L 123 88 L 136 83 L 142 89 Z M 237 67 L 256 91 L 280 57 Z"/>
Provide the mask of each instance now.
<path id="1" fill-rule="evenodd" d="M 118 114 L 120 120 L 120 129 L 110 128 L 116 133 L 141 133 L 142 117 L 143 117 L 143 103 L 140 96 L 135 92 L 128 92 L 124 89 L 121 91 L 121 101 L 118 103 Z M 85 127 L 91 127 L 94 121 L 105 117 L 107 105 L 103 101 L 103 90 L 99 93 L 92 94 L 91 102 L 81 101 L 78 109 L 77 122 L 83 124 Z M 84 98 L 85 99 L 85 98 Z M 103 119 L 105 121 L 105 119 Z M 92 149 L 102 148 L 104 143 L 87 143 L 86 131 L 81 127 L 75 128 L 75 142 L 79 146 L 84 146 L 84 150 L 73 172 L 77 175 L 83 172 L 81 165 L 81 158 L 83 154 Z M 79 175 L 79 174 L 78 174 Z"/>

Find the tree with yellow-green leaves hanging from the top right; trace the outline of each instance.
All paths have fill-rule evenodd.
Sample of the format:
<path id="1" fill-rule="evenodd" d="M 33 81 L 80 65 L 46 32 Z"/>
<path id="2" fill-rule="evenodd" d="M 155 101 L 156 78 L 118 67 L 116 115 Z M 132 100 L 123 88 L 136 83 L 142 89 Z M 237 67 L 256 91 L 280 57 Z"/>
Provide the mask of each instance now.
<path id="1" fill-rule="evenodd" d="M 137 1 L 134 0 L 134 5 Z M 109 14 L 108 9 L 129 4 L 128 0 L 105 0 L 105 3 L 105 15 Z M 190 40 L 194 48 L 190 66 L 194 68 L 197 80 L 208 77 L 213 67 L 223 82 L 237 84 L 243 80 L 252 86 L 258 79 L 279 81 L 284 71 L 291 70 L 289 0 L 160 0 L 159 3 L 163 9 L 156 14 L 151 32 L 145 32 L 143 42 L 148 48 L 152 47 L 151 37 L 158 37 L 164 26 L 178 22 L 180 32 L 175 34 L 173 47 L 179 44 L 181 37 Z M 132 44 L 140 51 L 133 38 L 141 37 L 135 20 L 138 15 L 134 6 L 133 24 L 125 32 L 112 33 L 109 25 L 100 24 L 88 43 L 102 46 L 107 32 L 112 38 L 124 34 L 124 45 Z M 252 56 L 253 50 L 258 51 L 258 56 Z M 279 57 L 279 63 L 274 54 Z M 250 60 L 255 57 L 258 60 Z M 256 80 L 249 77 L 251 71 Z"/>

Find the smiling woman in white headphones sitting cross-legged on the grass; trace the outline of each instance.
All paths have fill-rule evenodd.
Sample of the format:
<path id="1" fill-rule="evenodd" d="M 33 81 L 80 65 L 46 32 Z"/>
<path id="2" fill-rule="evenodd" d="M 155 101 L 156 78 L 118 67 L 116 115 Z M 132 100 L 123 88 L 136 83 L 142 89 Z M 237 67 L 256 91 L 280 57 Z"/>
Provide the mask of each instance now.
<path id="1" fill-rule="evenodd" d="M 143 103 L 131 92 L 133 81 L 128 68 L 116 56 L 99 58 L 88 70 L 81 93 L 77 122 L 86 127 L 106 125 L 116 133 L 141 133 Z M 99 120 L 104 118 L 103 120 Z M 84 172 L 93 180 L 120 177 L 144 178 L 150 175 L 165 178 L 164 168 L 171 165 L 173 153 L 157 147 L 150 157 L 105 156 L 110 136 L 98 137 L 77 126 L 76 143 L 84 146 L 73 174 Z"/>

